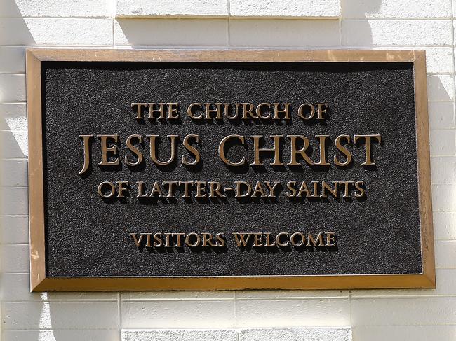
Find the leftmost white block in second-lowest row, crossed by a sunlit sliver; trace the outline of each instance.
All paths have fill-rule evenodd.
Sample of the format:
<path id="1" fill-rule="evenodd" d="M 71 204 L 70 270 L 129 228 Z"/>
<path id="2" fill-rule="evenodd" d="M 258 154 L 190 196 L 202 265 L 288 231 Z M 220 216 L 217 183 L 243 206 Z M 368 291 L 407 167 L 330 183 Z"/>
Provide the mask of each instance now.
<path id="1" fill-rule="evenodd" d="M 4 302 L 1 312 L 5 330 L 119 328 L 117 302 Z"/>

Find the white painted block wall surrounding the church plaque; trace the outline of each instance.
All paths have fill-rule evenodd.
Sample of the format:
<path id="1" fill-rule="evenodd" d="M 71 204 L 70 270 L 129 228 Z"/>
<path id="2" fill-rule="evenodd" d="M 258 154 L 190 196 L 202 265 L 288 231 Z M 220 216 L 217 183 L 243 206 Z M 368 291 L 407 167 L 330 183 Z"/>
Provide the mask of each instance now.
<path id="1" fill-rule="evenodd" d="M 454 340 L 455 5 L 451 0 L 1 0 L 2 340 L 120 341 L 122 329 L 133 335 L 126 340 L 143 340 L 128 331 L 304 326 L 351 326 L 354 341 Z M 427 50 L 436 290 L 29 293 L 27 46 Z M 239 340 L 255 340 L 240 333 Z"/>

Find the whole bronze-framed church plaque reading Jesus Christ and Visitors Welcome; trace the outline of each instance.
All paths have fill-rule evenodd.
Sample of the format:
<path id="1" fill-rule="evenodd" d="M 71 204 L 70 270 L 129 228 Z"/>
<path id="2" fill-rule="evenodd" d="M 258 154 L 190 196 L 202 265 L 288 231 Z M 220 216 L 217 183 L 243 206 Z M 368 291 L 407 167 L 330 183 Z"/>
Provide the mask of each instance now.
<path id="1" fill-rule="evenodd" d="M 423 51 L 27 50 L 32 291 L 435 286 Z"/>

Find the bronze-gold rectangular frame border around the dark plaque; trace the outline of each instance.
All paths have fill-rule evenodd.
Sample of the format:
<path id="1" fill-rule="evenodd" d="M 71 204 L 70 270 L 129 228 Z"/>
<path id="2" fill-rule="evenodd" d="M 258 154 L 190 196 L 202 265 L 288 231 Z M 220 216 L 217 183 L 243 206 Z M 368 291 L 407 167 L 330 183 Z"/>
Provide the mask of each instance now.
<path id="1" fill-rule="evenodd" d="M 27 49 L 31 291 L 435 288 L 429 125 L 424 50 L 75 50 Z M 421 274 L 248 277 L 46 277 L 41 62 L 413 62 Z"/>

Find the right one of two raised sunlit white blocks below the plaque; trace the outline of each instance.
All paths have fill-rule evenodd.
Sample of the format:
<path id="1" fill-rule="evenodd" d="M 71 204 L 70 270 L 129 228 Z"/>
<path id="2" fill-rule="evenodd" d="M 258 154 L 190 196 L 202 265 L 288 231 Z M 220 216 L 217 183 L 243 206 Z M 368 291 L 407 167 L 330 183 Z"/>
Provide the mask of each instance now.
<path id="1" fill-rule="evenodd" d="M 351 328 L 243 329 L 239 341 L 351 341 Z"/>

